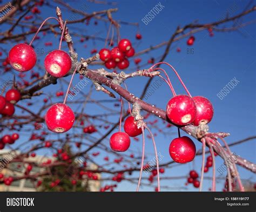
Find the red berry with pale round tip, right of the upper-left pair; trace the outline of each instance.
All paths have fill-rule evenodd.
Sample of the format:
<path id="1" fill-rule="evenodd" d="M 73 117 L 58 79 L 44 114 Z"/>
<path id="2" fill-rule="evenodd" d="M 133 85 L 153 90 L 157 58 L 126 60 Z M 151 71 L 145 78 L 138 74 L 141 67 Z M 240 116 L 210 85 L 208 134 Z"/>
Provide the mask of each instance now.
<path id="1" fill-rule="evenodd" d="M 44 59 L 45 70 L 53 77 L 65 76 L 71 66 L 69 54 L 62 50 L 53 50 Z"/>

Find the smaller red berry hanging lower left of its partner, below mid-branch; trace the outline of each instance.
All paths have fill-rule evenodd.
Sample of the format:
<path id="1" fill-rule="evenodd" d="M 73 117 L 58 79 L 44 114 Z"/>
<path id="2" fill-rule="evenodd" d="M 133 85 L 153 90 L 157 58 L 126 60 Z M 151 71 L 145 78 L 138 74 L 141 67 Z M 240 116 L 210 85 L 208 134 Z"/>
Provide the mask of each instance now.
<path id="1" fill-rule="evenodd" d="M 125 152 L 130 147 L 130 137 L 126 133 L 114 133 L 110 138 L 110 147 L 116 152 Z"/>

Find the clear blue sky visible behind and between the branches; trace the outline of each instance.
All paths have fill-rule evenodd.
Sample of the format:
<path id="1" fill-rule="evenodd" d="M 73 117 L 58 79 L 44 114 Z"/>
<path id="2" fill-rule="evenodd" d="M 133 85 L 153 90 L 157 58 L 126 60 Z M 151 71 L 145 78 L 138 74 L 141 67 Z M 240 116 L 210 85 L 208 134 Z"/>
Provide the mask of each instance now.
<path id="1" fill-rule="evenodd" d="M 67 1 L 72 3 L 74 8 L 81 8 L 80 1 Z M 126 22 L 137 22 L 139 23 L 139 28 L 136 26 L 122 25 L 120 33 L 122 38 L 129 38 L 133 42 L 136 52 L 144 50 L 151 45 L 156 45 L 161 42 L 168 40 L 172 33 L 176 30 L 177 26 L 184 26 L 186 24 L 197 21 L 198 23 L 209 23 L 214 22 L 220 18 L 225 17 L 227 11 L 230 13 L 230 16 L 234 16 L 241 11 L 243 11 L 248 3 L 248 1 L 160 1 L 161 5 L 164 6 L 163 10 L 154 17 L 154 19 L 147 25 L 142 22 L 142 18 L 157 4 L 159 1 L 116 1 L 118 2 L 117 6 L 110 5 L 101 5 L 101 4 L 92 4 L 87 3 L 88 9 L 86 12 L 90 13 L 93 11 L 100 11 L 107 8 L 118 7 L 118 12 L 113 13 L 113 18 L 117 20 L 124 20 Z M 56 5 L 55 3 L 52 3 Z M 255 4 L 255 1 L 254 1 Z M 252 5 L 251 5 L 252 6 Z M 43 7 L 44 8 L 44 7 Z M 42 16 L 44 18 L 48 16 L 55 16 L 54 9 L 42 10 Z M 62 6 L 60 6 L 62 8 Z M 63 10 L 64 19 L 69 18 L 71 13 L 67 13 Z M 247 22 L 255 19 L 255 13 L 251 13 L 243 17 L 241 20 Z M 54 20 L 52 20 L 53 22 Z M 224 26 L 232 26 L 231 24 L 223 24 L 220 26 L 220 29 Z M 100 37 L 106 36 L 106 29 L 108 25 L 99 22 L 97 26 L 90 24 L 89 26 L 85 24 L 77 24 L 76 27 L 85 30 L 85 35 L 93 35 L 97 33 Z M 5 26 L 6 27 L 6 26 Z M 134 39 L 137 31 L 143 36 L 141 42 L 138 42 Z M 5 30 L 5 29 L 1 29 Z M 72 31 L 72 29 L 70 28 Z M 19 31 L 17 31 L 19 32 Z M 82 33 L 82 32 L 81 32 Z M 42 35 L 41 35 L 42 36 Z M 71 35 L 72 36 L 72 35 Z M 188 90 L 190 90 L 192 95 L 203 95 L 204 97 L 212 101 L 214 107 L 214 118 L 210 123 L 211 132 L 229 132 L 230 136 L 226 139 L 228 143 L 238 141 L 240 139 L 247 138 L 248 136 L 255 135 L 255 108 L 256 108 L 256 98 L 255 98 L 255 38 L 256 30 L 255 25 L 244 26 L 239 31 L 231 32 L 215 32 L 214 36 L 208 36 L 207 30 L 201 31 L 194 35 L 196 41 L 194 42 L 193 54 L 187 54 L 187 45 L 186 39 L 182 39 L 173 44 L 175 47 L 170 51 L 169 55 L 166 57 L 165 61 L 173 65 L 181 78 L 183 78 L 184 83 L 186 84 Z M 43 37 L 43 36 L 42 36 Z M 79 57 L 89 57 L 90 50 L 95 48 L 100 50 L 104 46 L 104 42 L 96 40 L 92 42 L 86 42 L 87 48 L 84 48 L 83 45 L 80 45 L 78 40 L 79 38 L 73 37 L 75 41 L 75 48 L 79 54 Z M 31 38 L 29 37 L 28 40 Z M 44 47 L 43 43 L 53 42 L 52 47 Z M 8 49 L 9 44 L 0 44 L 2 47 Z M 36 47 L 44 47 L 44 51 L 48 52 L 53 48 L 57 48 L 58 40 L 49 35 L 40 40 L 40 42 L 35 42 Z M 181 48 L 181 52 L 176 52 L 176 47 Z M 63 45 L 63 49 L 67 50 L 66 45 Z M 157 50 L 151 51 L 148 54 L 145 54 L 141 58 L 143 59 L 143 64 L 146 63 L 151 57 L 158 58 L 163 54 L 165 46 Z M 43 65 L 44 56 L 40 58 L 41 65 Z M 130 67 L 134 66 L 133 61 L 130 61 Z M 147 65 L 145 67 L 149 67 Z M 96 67 L 96 66 L 95 66 Z M 165 66 L 163 66 L 165 67 Z M 93 67 L 94 68 L 94 67 Z M 176 88 L 177 93 L 184 93 L 185 91 L 180 86 L 177 78 L 171 72 L 170 69 L 165 67 L 167 73 L 171 78 L 174 88 Z M 220 90 L 226 86 L 233 78 L 236 78 L 239 83 L 233 88 L 233 90 L 223 99 L 220 100 L 217 97 L 217 94 Z M 1 80 L 8 78 L 8 74 L 1 76 Z M 70 79 L 70 78 L 68 78 Z M 68 80 L 67 79 L 67 80 Z M 75 77 L 74 85 L 78 83 L 78 76 Z M 127 80 L 127 86 L 131 93 L 135 95 L 140 95 L 142 88 L 144 87 L 147 79 L 146 78 L 133 78 Z M 154 81 L 154 80 L 153 80 Z M 63 84 L 64 91 L 66 90 L 66 85 Z M 58 85 L 51 85 L 47 88 L 44 88 L 44 93 L 50 94 L 52 91 L 57 90 Z M 89 86 L 83 90 L 84 93 L 89 91 Z M 44 96 L 45 97 L 45 96 Z M 92 98 L 95 99 L 108 99 L 106 95 L 102 93 L 92 93 Z M 171 98 L 171 92 L 169 92 L 166 85 L 161 85 L 158 90 L 154 92 L 153 95 L 147 102 L 157 105 L 160 108 L 165 108 L 167 101 Z M 36 101 L 41 99 L 39 103 L 42 102 L 42 98 L 35 98 L 32 100 L 35 102 L 33 110 L 37 110 Z M 76 99 L 79 99 L 76 97 Z M 57 101 L 57 99 L 56 99 Z M 24 101 L 25 102 L 25 101 Z M 113 107 L 113 104 L 108 106 Z M 76 110 L 76 108 L 73 108 Z M 119 110 L 114 108 L 114 110 Z M 89 114 L 99 114 L 102 112 L 99 107 L 90 104 L 86 106 L 86 113 Z M 112 122 L 116 122 L 118 119 L 115 116 Z M 102 131 L 104 132 L 104 131 Z M 156 142 L 158 151 L 164 155 L 162 162 L 170 161 L 170 155 L 168 152 L 169 144 L 171 140 L 177 136 L 176 129 L 174 129 L 173 134 L 168 136 L 161 135 L 158 133 L 156 136 Z M 53 138 L 51 135 L 49 138 Z M 60 135 L 65 136 L 65 135 Z M 97 135 L 96 137 L 99 137 Z M 26 139 L 26 133 L 23 134 L 22 139 Z M 105 145 L 108 145 L 108 140 L 104 141 Z M 131 150 L 141 151 L 141 141 L 133 142 Z M 197 149 L 201 148 L 201 143 L 196 142 Z M 237 155 L 240 155 L 247 160 L 255 162 L 255 140 L 242 143 L 239 146 L 232 147 L 232 151 Z M 153 156 L 153 146 L 152 142 L 149 140 L 146 142 L 146 152 L 149 158 Z M 41 151 L 42 154 L 52 153 Z M 104 153 L 99 157 L 99 161 L 102 161 Z M 223 163 L 219 157 L 217 157 L 217 167 Z M 186 165 L 177 166 L 166 171 L 164 176 L 184 176 L 187 175 L 189 170 L 194 167 L 199 171 L 201 167 L 201 157 L 197 157 L 194 162 Z M 247 170 L 238 167 L 240 175 L 244 179 L 249 179 L 255 181 L 255 175 Z M 212 169 L 206 174 L 206 176 L 211 176 Z M 134 173 L 133 177 L 138 176 L 138 173 Z M 146 175 L 145 175 L 146 176 Z M 222 175 L 225 176 L 224 174 Z M 171 187 L 183 186 L 185 183 L 183 180 L 163 180 L 161 181 L 162 185 L 169 185 Z M 217 189 L 221 190 L 223 188 L 223 181 L 217 184 Z M 204 182 L 204 190 L 207 190 L 211 186 L 211 181 Z M 117 190 L 122 191 L 134 191 L 136 189 L 135 184 L 130 184 L 127 182 L 122 182 L 119 184 Z M 187 187 L 188 190 L 194 191 L 197 189 L 192 188 L 192 186 Z M 142 187 L 142 190 L 152 190 L 152 188 Z M 163 189 L 165 190 L 165 189 Z"/>

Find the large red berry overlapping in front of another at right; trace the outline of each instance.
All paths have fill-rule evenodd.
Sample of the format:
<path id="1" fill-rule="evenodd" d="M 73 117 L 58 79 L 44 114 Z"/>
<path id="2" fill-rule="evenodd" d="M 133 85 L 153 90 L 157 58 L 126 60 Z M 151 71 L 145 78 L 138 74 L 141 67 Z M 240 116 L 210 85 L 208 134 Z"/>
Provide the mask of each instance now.
<path id="1" fill-rule="evenodd" d="M 196 118 L 197 107 L 188 95 L 176 95 L 168 102 L 166 114 L 174 124 L 186 125 Z"/>

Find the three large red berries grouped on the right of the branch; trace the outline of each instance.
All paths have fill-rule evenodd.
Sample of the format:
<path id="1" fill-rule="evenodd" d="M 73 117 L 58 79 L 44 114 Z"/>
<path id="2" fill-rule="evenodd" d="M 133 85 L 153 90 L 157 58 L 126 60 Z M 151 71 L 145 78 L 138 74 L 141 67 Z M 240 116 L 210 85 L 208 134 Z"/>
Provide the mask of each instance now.
<path id="1" fill-rule="evenodd" d="M 205 97 L 176 95 L 167 104 L 167 117 L 178 126 L 207 124 L 213 117 L 213 106 Z M 187 136 L 173 139 L 169 153 L 178 163 L 190 162 L 196 155 L 196 146 Z"/>

